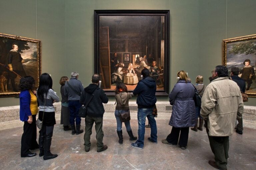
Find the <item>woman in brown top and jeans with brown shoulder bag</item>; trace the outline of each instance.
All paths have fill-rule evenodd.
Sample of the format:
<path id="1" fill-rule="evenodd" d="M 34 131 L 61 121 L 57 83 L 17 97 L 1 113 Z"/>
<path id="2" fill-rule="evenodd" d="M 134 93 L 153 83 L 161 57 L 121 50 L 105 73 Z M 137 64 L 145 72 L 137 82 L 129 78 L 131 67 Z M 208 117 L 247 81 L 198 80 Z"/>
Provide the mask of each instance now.
<path id="1" fill-rule="evenodd" d="M 115 89 L 115 98 L 116 98 L 116 110 L 115 117 L 117 123 L 117 135 L 119 138 L 119 143 L 123 144 L 123 132 L 122 132 L 122 122 L 119 118 L 119 114 L 127 112 L 129 110 L 129 99 L 132 98 L 131 94 L 128 93 L 127 87 L 124 83 L 117 82 Z M 134 137 L 132 134 L 132 129 L 130 121 L 124 122 L 127 133 L 130 137 L 130 141 L 136 140 L 137 137 Z"/>

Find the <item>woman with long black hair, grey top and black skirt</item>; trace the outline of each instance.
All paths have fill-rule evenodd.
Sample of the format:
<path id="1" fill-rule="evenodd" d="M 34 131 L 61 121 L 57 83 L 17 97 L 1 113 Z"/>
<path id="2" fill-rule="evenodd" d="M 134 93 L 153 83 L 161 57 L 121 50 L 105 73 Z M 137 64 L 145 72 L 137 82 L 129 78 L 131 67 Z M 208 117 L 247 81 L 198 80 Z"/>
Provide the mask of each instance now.
<path id="1" fill-rule="evenodd" d="M 48 73 L 43 73 L 39 79 L 37 89 L 37 98 L 39 102 L 39 120 L 43 120 L 43 127 L 39 131 L 39 156 L 44 156 L 44 160 L 56 158 L 57 154 L 50 151 L 53 128 L 55 121 L 54 102 L 59 102 L 59 97 L 52 90 L 52 78 Z"/>

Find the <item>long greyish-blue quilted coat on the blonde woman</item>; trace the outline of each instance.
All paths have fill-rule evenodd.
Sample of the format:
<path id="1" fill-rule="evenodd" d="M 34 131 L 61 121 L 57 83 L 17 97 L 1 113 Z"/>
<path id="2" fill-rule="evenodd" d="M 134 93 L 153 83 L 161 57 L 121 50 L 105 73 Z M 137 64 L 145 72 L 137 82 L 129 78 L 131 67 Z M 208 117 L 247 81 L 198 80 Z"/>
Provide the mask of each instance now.
<path id="1" fill-rule="evenodd" d="M 195 125 L 195 95 L 194 86 L 179 80 L 172 92 L 169 94 L 169 101 L 172 106 L 172 116 L 169 125 L 174 127 L 190 127 Z"/>

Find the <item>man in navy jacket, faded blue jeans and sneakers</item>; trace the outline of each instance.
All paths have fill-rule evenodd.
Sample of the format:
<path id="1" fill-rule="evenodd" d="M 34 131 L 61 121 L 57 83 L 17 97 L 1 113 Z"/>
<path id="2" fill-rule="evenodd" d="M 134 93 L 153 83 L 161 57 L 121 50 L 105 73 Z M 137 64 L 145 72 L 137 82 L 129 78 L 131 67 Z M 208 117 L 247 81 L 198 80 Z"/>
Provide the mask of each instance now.
<path id="1" fill-rule="evenodd" d="M 135 143 L 131 144 L 132 147 L 139 149 L 143 149 L 144 147 L 146 117 L 151 127 L 151 134 L 148 140 L 157 143 L 156 120 L 152 114 L 153 107 L 156 103 L 156 82 L 149 76 L 149 70 L 146 68 L 141 71 L 141 75 L 143 79 L 139 81 L 136 88 L 133 90 L 133 94 L 137 95 L 139 137 Z"/>

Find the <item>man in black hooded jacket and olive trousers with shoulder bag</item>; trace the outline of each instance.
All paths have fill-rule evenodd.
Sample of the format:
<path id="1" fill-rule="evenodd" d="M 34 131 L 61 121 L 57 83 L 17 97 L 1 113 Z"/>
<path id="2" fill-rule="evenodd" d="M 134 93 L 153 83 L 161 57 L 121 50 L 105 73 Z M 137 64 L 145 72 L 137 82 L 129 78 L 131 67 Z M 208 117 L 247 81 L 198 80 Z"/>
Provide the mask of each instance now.
<path id="1" fill-rule="evenodd" d="M 87 105 L 87 115 L 85 117 L 85 133 L 84 133 L 84 149 L 85 152 L 90 151 L 91 142 L 90 136 L 92 134 L 92 126 L 95 122 L 95 131 L 96 131 L 96 139 L 97 139 L 97 152 L 104 151 L 108 149 L 107 145 L 103 145 L 103 114 L 105 112 L 103 104 L 108 102 L 108 97 L 103 91 L 103 89 L 99 88 L 100 76 L 98 74 L 94 74 L 92 76 L 92 83 L 84 88 L 82 91 L 82 95 L 80 97 L 80 103 Z"/>

